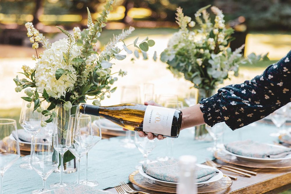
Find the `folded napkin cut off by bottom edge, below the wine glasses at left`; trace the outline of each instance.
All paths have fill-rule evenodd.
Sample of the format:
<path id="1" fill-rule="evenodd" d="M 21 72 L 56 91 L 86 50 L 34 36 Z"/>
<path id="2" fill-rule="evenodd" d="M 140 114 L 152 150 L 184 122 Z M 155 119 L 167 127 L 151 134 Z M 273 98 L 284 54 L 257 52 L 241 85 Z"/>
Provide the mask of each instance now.
<path id="1" fill-rule="evenodd" d="M 111 194 L 108 191 L 98 190 L 87 185 L 65 186 L 55 190 L 45 191 L 42 194 Z M 113 194 L 113 193 L 112 193 Z"/>

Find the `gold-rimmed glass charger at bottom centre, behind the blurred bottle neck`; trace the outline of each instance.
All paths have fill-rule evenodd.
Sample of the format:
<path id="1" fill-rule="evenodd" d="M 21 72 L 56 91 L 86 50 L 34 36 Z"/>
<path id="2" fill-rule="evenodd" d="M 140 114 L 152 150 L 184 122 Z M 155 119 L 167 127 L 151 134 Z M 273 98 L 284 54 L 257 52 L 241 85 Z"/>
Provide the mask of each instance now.
<path id="1" fill-rule="evenodd" d="M 132 182 L 133 184 L 135 184 L 141 188 L 149 189 L 152 191 L 176 193 L 175 187 L 162 186 L 154 180 L 150 180 L 150 179 L 145 178 L 143 175 L 139 174 L 138 170 L 132 172 L 129 175 L 129 180 L 130 180 L 130 182 Z M 215 181 L 215 182 L 205 184 L 205 185 L 198 187 L 198 193 L 209 193 L 209 192 L 221 191 L 221 190 L 224 190 L 224 189 L 227 189 L 228 187 L 230 187 L 232 185 L 232 183 L 233 182 L 229 177 L 223 176 L 218 181 Z"/>

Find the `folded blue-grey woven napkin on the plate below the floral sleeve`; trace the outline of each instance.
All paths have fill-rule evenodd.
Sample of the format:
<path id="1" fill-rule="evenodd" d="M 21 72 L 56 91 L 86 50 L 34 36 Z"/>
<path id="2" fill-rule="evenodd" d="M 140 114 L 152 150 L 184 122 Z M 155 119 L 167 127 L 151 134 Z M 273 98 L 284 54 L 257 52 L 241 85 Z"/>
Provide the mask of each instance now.
<path id="1" fill-rule="evenodd" d="M 235 141 L 224 145 L 224 147 L 234 154 L 255 158 L 284 158 L 291 153 L 290 148 L 275 147 L 252 140 Z"/>

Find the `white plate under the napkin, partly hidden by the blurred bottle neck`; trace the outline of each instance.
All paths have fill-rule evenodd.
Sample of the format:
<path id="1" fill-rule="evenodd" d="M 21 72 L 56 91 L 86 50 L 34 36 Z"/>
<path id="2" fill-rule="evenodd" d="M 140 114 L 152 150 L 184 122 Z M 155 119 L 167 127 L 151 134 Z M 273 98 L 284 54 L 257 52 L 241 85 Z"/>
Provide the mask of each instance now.
<path id="1" fill-rule="evenodd" d="M 196 165 L 199 166 L 199 167 L 201 167 L 201 168 L 213 168 L 213 167 L 210 167 L 210 166 L 207 166 L 207 165 L 203 165 L 203 164 L 196 164 Z M 213 169 L 216 169 L 216 168 L 213 168 Z M 155 178 L 153 178 L 153 177 L 145 174 L 145 172 L 143 172 L 143 169 L 142 168 L 139 169 L 139 173 L 141 175 L 143 175 L 145 178 L 154 180 L 157 183 L 159 183 L 161 185 L 164 185 L 164 186 L 176 187 L 177 184 L 179 184 L 179 183 L 173 183 L 173 182 L 167 182 L 167 181 L 161 181 L 161 180 L 155 179 Z M 212 183 L 214 181 L 218 181 L 222 177 L 223 177 L 223 173 L 220 170 L 218 170 L 218 174 L 215 175 L 215 176 L 213 176 L 213 177 L 211 177 L 211 179 L 209 179 L 208 181 L 204 181 L 204 182 L 200 182 L 200 183 L 196 183 L 196 184 L 197 184 L 197 186 L 202 186 L 202 185 L 207 184 L 207 183 Z"/>

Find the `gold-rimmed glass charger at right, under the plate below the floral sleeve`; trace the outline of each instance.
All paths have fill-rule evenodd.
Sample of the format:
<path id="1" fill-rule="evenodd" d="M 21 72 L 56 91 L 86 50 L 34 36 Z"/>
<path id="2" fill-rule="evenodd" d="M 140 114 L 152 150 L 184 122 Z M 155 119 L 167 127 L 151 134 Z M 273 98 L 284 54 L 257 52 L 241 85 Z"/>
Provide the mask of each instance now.
<path id="1" fill-rule="evenodd" d="M 245 166 L 245 167 L 250 167 L 250 168 L 291 168 L 291 159 L 283 160 L 280 162 L 270 162 L 270 163 L 252 162 L 252 161 L 238 159 L 237 157 L 227 154 L 226 152 L 223 152 L 220 150 L 217 150 L 214 152 L 214 157 L 225 163 Z"/>

